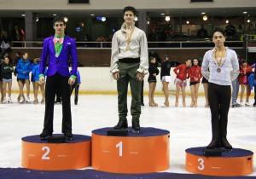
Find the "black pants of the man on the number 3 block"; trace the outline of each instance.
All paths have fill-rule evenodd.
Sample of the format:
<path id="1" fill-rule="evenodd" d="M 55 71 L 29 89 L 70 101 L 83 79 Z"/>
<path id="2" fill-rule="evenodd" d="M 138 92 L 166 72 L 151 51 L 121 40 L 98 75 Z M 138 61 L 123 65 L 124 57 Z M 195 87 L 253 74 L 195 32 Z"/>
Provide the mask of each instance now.
<path id="1" fill-rule="evenodd" d="M 208 84 L 208 99 L 212 113 L 212 140 L 220 141 L 227 136 L 230 97 L 230 86 Z"/>

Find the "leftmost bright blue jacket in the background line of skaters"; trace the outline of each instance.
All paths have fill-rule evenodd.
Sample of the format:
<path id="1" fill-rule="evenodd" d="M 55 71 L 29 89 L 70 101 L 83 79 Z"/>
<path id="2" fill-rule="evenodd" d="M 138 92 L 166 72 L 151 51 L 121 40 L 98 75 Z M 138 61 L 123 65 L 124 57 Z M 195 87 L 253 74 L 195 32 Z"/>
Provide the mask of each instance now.
<path id="1" fill-rule="evenodd" d="M 22 58 L 18 61 L 16 70 L 17 70 L 17 78 L 19 79 L 29 79 L 29 72 L 31 72 L 32 64 L 27 59 L 24 61 Z"/>

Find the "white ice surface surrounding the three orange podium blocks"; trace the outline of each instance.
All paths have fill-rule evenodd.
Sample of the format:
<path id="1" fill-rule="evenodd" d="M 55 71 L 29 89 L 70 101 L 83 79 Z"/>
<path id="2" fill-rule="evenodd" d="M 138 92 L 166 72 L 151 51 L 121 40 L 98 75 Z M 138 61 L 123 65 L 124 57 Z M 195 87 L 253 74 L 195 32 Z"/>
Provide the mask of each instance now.
<path id="1" fill-rule="evenodd" d="M 13 96 L 16 101 L 17 95 Z M 167 172 L 187 173 L 184 170 L 185 149 L 206 146 L 212 137 L 210 109 L 204 107 L 201 96 L 199 107 L 174 107 L 174 96 L 170 96 L 171 107 L 148 107 L 148 96 L 144 96 L 141 126 L 169 130 L 170 169 Z M 163 96 L 155 101 L 163 103 Z M 187 96 L 187 106 L 190 96 Z M 253 103 L 253 99 L 250 99 Z M 130 107 L 131 96 L 128 97 Z M 180 104 L 181 106 L 181 104 Z M 128 107 L 128 109 L 129 109 Z M 129 110 L 130 112 L 130 110 Z M 79 95 L 79 105 L 74 106 L 72 97 L 73 134 L 91 135 L 91 130 L 113 126 L 118 121 L 117 95 Z M 61 105 L 55 105 L 55 133 L 61 132 Z M 131 125 L 131 115 L 128 115 Z M 21 137 L 39 134 L 44 124 L 44 105 L 0 104 L 0 167 L 20 167 Z M 256 152 L 256 108 L 230 108 L 228 140 L 233 147 Z M 254 164 L 255 164 L 254 157 Z M 256 176 L 254 165 L 253 176 Z"/>

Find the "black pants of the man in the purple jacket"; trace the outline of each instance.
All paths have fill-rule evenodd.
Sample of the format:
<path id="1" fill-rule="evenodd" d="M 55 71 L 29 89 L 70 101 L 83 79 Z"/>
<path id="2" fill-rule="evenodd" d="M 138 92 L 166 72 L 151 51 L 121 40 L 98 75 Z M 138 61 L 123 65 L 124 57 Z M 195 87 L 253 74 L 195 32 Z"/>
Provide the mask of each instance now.
<path id="1" fill-rule="evenodd" d="M 54 105 L 57 90 L 61 91 L 62 133 L 72 131 L 70 85 L 68 84 L 68 78 L 69 77 L 63 77 L 56 73 L 54 76 L 47 77 L 46 79 L 44 130 L 46 130 L 48 133 L 53 132 Z"/>

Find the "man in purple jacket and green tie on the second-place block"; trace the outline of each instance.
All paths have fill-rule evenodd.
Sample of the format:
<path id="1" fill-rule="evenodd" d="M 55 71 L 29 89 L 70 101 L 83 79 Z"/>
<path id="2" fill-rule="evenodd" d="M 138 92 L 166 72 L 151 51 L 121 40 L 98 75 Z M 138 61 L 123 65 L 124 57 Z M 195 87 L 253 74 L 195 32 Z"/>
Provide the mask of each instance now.
<path id="1" fill-rule="evenodd" d="M 39 82 L 44 83 L 46 61 L 49 60 L 45 85 L 44 130 L 40 137 L 41 140 L 46 140 L 53 133 L 55 95 L 60 90 L 62 100 L 62 133 L 64 133 L 67 141 L 72 141 L 70 88 L 75 82 L 78 68 L 76 43 L 73 38 L 65 36 L 66 23 L 63 17 L 56 16 L 53 20 L 53 27 L 55 29 L 55 36 L 44 39 L 39 68 Z M 68 70 L 69 61 L 72 64 L 71 75 Z"/>

